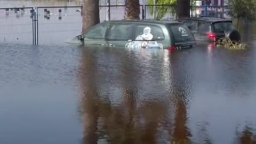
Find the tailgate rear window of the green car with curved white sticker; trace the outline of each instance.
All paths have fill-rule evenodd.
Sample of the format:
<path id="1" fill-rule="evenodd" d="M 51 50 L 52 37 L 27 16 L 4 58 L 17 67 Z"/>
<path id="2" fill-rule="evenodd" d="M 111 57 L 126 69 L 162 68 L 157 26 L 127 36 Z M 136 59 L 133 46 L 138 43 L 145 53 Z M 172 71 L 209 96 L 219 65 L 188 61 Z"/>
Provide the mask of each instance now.
<path id="1" fill-rule="evenodd" d="M 169 26 L 174 36 L 175 43 L 182 43 L 188 41 L 194 41 L 195 38 L 191 34 L 187 26 L 183 24 L 176 24 Z"/>

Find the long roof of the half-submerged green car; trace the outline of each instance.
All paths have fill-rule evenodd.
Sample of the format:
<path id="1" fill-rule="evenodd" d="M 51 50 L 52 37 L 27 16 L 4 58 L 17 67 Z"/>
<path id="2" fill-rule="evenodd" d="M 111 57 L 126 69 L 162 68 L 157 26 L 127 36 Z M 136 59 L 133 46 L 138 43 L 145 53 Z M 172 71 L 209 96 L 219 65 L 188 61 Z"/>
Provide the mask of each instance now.
<path id="1" fill-rule="evenodd" d="M 150 19 L 146 19 L 146 20 L 111 20 L 111 21 L 105 21 L 105 22 L 132 22 L 132 23 L 155 23 L 155 24 L 175 24 L 175 23 L 181 23 L 179 21 L 176 20 L 150 20 Z"/>

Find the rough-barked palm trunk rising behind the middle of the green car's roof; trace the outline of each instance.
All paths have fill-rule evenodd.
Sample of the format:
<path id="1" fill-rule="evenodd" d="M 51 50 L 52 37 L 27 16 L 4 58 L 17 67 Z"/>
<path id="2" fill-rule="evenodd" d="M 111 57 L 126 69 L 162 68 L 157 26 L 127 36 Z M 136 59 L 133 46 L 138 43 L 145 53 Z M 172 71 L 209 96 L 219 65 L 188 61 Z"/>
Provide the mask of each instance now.
<path id="1" fill-rule="evenodd" d="M 125 0 L 124 19 L 140 19 L 139 0 Z"/>

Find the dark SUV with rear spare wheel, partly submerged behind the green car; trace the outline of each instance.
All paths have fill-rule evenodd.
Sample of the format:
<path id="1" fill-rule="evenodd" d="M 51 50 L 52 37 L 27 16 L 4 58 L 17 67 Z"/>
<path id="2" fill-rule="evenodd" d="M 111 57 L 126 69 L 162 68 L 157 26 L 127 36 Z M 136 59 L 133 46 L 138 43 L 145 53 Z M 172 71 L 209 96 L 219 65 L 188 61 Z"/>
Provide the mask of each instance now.
<path id="1" fill-rule="evenodd" d="M 191 30 L 196 41 L 215 42 L 225 37 L 229 37 L 231 41 L 241 41 L 239 32 L 234 27 L 233 21 L 229 19 L 191 17 L 178 19 L 177 21 L 183 22 Z"/>

